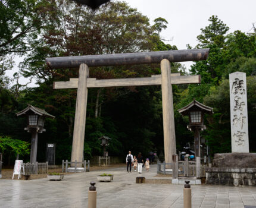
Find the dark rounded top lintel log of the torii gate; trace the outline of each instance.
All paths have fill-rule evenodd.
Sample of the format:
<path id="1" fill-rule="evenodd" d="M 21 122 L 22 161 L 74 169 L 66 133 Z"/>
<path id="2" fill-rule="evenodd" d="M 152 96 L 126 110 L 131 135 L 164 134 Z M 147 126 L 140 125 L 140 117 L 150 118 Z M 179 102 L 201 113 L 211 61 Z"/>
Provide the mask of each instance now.
<path id="1" fill-rule="evenodd" d="M 88 67 L 103 67 L 132 64 L 154 64 L 163 59 L 170 62 L 201 61 L 207 59 L 209 49 L 188 49 L 176 51 L 155 51 L 138 53 L 115 53 L 105 55 L 67 56 L 46 58 L 51 68 L 78 68 L 80 64 Z"/>

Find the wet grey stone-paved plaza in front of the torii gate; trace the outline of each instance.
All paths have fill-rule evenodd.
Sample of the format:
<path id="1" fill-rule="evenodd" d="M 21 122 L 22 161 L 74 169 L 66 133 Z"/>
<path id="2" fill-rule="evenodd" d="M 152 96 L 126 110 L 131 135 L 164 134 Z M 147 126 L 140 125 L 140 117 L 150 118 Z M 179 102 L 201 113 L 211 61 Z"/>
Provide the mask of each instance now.
<path id="1" fill-rule="evenodd" d="M 156 166 L 143 177 L 156 175 Z M 145 169 L 143 169 L 145 171 Z M 96 182 L 98 208 L 183 207 L 183 185 L 135 184 L 138 172 L 128 174 L 125 168 L 65 175 L 64 181 L 0 180 L 0 207 L 87 207 L 89 182 L 96 175 L 114 174 L 113 182 Z M 256 206 L 256 187 L 192 185 L 192 207 L 242 208 Z"/>

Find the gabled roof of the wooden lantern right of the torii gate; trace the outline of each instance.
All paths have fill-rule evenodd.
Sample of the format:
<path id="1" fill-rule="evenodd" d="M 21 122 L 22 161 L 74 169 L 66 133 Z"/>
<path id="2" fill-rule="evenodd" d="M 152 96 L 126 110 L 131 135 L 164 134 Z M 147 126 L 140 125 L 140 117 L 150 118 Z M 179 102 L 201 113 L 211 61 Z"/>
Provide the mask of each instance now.
<path id="1" fill-rule="evenodd" d="M 213 108 L 203 105 L 202 103 L 199 103 L 195 99 L 189 105 L 186 105 L 183 108 L 180 108 L 178 111 L 182 115 L 188 115 L 189 111 L 195 111 L 200 110 L 203 111 L 205 114 L 213 114 Z"/>

